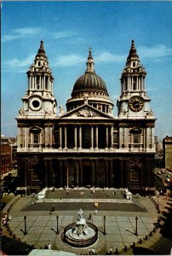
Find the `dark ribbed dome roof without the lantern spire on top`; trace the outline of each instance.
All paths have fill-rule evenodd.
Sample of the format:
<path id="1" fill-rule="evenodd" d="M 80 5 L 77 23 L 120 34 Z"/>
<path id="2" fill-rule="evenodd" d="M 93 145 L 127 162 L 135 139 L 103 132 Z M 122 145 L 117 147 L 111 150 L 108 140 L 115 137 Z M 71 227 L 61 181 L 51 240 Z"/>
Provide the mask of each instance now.
<path id="1" fill-rule="evenodd" d="M 108 95 L 106 84 L 95 72 L 86 72 L 75 82 L 72 95 L 78 90 L 101 90 Z"/>

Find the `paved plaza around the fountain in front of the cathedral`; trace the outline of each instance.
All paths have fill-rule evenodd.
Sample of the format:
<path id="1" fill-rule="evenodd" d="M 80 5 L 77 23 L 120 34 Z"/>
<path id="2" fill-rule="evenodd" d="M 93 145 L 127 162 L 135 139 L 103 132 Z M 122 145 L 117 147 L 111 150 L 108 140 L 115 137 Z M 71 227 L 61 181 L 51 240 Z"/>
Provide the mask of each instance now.
<path id="1" fill-rule="evenodd" d="M 106 254 L 110 247 L 114 253 L 117 249 L 118 252 L 123 252 L 124 247 L 130 247 L 133 242 L 136 243 L 140 239 L 144 240 L 158 221 L 156 207 L 148 197 L 134 196 L 132 201 L 126 200 L 119 190 L 114 193 L 114 190 L 109 189 L 95 191 L 97 194 L 95 198 L 95 194 L 93 195 L 90 189 L 82 191 L 83 197 L 78 196 L 77 194 L 81 195 L 81 191 L 75 189 L 71 189 L 68 195 L 64 190 L 49 191 L 44 201 L 37 201 L 33 196 L 20 197 L 10 210 L 12 217 L 9 221 L 10 230 L 17 238 L 20 238 L 20 241 L 36 248 L 43 248 L 45 244 L 51 243 L 54 250 L 89 254 L 89 247 L 72 248 L 61 240 L 64 228 L 76 222 L 77 213 L 82 208 L 86 221 L 95 224 L 99 230 L 98 240 L 93 245 L 95 252 Z M 109 201 L 107 203 L 105 202 L 106 195 Z M 119 199 L 121 202 L 116 202 Z M 96 208 L 97 214 L 95 214 L 95 202 L 97 201 L 99 203 Z M 54 212 L 49 214 L 51 207 L 54 207 Z M 89 219 L 90 213 L 91 219 Z M 56 234 L 57 215 L 59 216 L 59 234 Z M 26 216 L 27 235 L 24 235 L 24 216 Z M 104 225 L 104 216 L 106 216 L 106 225 Z M 138 236 L 135 236 L 136 216 L 138 217 Z"/>

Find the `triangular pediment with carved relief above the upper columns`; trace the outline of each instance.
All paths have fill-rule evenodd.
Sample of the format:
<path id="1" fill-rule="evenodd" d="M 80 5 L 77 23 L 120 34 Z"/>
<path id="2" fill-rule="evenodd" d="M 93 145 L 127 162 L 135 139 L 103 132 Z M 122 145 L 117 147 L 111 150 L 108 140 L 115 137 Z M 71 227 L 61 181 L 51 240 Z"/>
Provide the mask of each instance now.
<path id="1" fill-rule="evenodd" d="M 60 116 L 60 119 L 113 119 L 110 114 L 103 113 L 100 110 L 90 106 L 89 104 L 83 104 L 78 108 Z"/>

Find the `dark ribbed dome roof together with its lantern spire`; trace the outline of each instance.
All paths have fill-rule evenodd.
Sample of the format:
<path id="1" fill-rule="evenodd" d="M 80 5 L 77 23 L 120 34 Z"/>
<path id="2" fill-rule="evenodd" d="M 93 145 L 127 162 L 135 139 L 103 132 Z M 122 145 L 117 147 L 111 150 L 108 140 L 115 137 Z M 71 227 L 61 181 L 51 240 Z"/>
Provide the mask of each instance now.
<path id="1" fill-rule="evenodd" d="M 89 57 L 87 61 L 87 70 L 85 73 L 77 79 L 73 86 L 72 90 L 72 96 L 77 92 L 78 90 L 100 90 L 102 92 L 105 92 L 108 95 L 108 92 L 106 90 L 106 84 L 103 81 L 103 79 L 100 78 L 95 73 L 94 70 L 94 61 L 91 54 L 91 49 L 89 48 Z"/>

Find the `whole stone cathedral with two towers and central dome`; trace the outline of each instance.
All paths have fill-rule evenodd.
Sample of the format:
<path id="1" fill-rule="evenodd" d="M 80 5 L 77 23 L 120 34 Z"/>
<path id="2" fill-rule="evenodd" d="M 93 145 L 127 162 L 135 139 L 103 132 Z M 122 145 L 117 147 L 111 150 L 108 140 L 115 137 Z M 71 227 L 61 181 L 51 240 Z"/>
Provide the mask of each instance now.
<path id="1" fill-rule="evenodd" d="M 106 84 L 95 73 L 92 50 L 66 111 L 53 92 L 54 77 L 43 41 L 27 72 L 26 95 L 16 118 L 20 186 L 154 189 L 155 116 L 146 93 L 146 70 L 132 40 L 120 79 L 118 116 Z"/>

